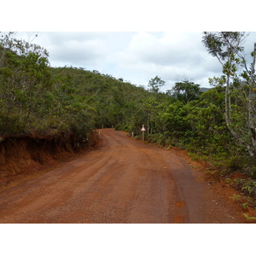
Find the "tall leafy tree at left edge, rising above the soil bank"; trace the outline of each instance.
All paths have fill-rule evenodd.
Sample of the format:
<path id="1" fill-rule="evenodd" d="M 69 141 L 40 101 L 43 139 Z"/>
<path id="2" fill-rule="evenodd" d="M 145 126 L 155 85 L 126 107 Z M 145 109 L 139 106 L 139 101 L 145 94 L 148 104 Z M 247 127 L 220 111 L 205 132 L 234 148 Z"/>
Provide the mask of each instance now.
<path id="1" fill-rule="evenodd" d="M 0 103 L 3 103 L 0 113 L 3 126 L 16 124 L 25 129 L 32 113 L 38 110 L 43 91 L 49 88 L 48 52 L 14 35 L 0 34 Z M 9 129 L 3 128 L 4 131 Z"/>

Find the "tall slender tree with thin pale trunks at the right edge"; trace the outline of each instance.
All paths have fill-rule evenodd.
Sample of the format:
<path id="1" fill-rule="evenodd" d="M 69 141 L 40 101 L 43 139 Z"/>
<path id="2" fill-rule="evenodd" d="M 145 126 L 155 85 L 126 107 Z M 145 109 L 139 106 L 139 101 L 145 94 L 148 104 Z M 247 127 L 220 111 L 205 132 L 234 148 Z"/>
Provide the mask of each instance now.
<path id="1" fill-rule="evenodd" d="M 204 32 L 202 43 L 207 51 L 223 67 L 224 76 L 221 83 L 225 86 L 225 122 L 233 137 L 236 138 L 248 153 L 256 156 L 256 112 L 255 95 L 255 44 L 252 53 L 253 61 L 247 68 L 243 54 L 242 43 L 246 37 L 245 32 Z M 244 68 L 238 73 L 238 67 Z M 245 79 L 241 81 L 242 79 Z"/>

